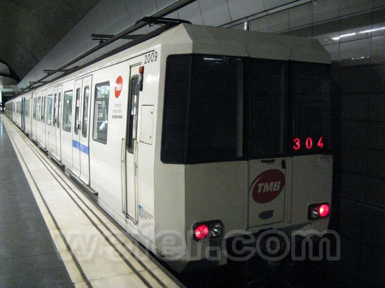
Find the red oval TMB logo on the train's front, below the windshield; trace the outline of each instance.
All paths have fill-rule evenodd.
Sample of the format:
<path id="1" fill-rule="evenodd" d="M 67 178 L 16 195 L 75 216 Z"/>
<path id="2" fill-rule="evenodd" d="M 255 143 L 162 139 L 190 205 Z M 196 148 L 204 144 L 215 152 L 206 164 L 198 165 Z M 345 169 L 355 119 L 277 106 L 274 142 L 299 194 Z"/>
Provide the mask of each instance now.
<path id="1" fill-rule="evenodd" d="M 274 200 L 285 186 L 285 175 L 277 169 L 270 169 L 259 174 L 251 183 L 250 191 L 257 203 Z"/>

